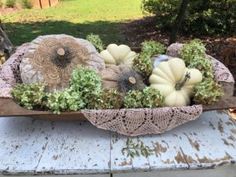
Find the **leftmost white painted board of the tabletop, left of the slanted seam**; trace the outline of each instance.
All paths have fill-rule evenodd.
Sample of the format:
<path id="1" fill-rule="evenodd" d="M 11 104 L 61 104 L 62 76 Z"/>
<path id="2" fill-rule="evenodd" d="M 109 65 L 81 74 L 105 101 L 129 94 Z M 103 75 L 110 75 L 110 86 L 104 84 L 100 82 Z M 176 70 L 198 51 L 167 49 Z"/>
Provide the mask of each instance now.
<path id="1" fill-rule="evenodd" d="M 29 118 L 0 118 L 0 173 L 33 173 L 49 127 Z"/>

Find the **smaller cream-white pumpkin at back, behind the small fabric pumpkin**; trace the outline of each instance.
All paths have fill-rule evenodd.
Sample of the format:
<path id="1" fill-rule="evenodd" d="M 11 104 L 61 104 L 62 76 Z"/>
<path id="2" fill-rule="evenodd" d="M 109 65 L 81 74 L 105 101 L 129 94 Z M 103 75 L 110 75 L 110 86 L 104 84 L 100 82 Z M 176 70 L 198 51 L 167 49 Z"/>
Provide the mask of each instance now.
<path id="1" fill-rule="evenodd" d="M 104 59 L 105 64 L 124 64 L 130 67 L 133 65 L 133 59 L 136 57 L 136 53 L 131 51 L 129 46 L 123 44 L 119 46 L 110 44 L 106 50 L 101 51 L 100 55 Z"/>

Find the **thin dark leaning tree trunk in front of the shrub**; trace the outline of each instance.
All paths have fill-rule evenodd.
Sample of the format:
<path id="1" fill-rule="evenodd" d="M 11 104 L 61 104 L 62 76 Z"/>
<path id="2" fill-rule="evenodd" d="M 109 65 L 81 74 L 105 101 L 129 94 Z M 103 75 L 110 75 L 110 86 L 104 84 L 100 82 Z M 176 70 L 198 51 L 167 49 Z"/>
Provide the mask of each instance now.
<path id="1" fill-rule="evenodd" d="M 184 16 L 185 16 L 185 13 L 188 8 L 189 1 L 190 0 L 182 0 L 182 2 L 181 2 L 178 15 L 176 17 L 175 23 L 172 27 L 172 31 L 170 34 L 169 44 L 176 42 L 177 34 L 178 34 L 181 24 L 184 20 Z"/>

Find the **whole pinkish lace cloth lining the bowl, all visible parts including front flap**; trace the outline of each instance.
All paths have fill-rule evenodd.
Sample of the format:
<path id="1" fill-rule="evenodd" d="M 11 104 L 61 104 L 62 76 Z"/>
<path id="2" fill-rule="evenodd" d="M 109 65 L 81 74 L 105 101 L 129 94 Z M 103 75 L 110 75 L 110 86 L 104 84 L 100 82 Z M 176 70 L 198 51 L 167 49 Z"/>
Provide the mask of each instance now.
<path id="1" fill-rule="evenodd" d="M 31 44 L 18 47 L 6 63 L 0 68 L 0 98 L 12 98 L 11 89 L 21 83 L 19 65 L 24 53 Z M 167 55 L 178 57 L 182 44 L 171 45 Z M 228 68 L 209 56 L 214 66 L 215 79 L 222 83 L 226 96 L 232 96 L 234 78 Z M 184 107 L 163 107 L 156 109 L 120 109 L 120 110 L 82 110 L 84 116 L 96 127 L 118 132 L 123 135 L 137 136 L 160 134 L 186 122 L 197 119 L 202 114 L 202 105 Z"/>

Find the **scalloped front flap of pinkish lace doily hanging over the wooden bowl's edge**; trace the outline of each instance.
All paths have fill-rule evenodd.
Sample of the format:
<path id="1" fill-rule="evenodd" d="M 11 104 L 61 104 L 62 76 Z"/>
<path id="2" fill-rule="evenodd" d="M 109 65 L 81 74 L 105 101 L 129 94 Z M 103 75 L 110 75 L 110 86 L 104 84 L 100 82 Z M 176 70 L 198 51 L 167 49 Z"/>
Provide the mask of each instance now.
<path id="1" fill-rule="evenodd" d="M 197 119 L 201 105 L 156 109 L 82 110 L 96 127 L 128 136 L 160 134 Z"/>

